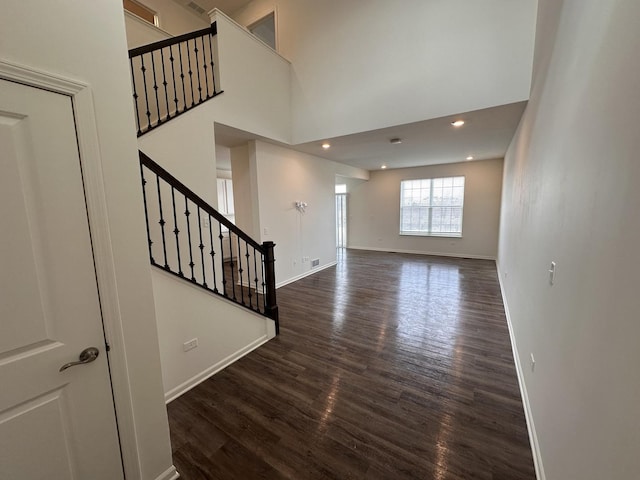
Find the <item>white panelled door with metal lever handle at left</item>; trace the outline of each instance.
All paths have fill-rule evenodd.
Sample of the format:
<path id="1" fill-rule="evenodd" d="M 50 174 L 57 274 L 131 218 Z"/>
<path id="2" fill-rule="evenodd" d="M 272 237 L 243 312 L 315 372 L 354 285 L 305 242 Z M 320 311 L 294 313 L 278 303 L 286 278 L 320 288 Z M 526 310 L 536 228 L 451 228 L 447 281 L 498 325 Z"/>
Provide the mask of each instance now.
<path id="1" fill-rule="evenodd" d="M 71 98 L 0 80 L 0 479 L 121 478 Z"/>

